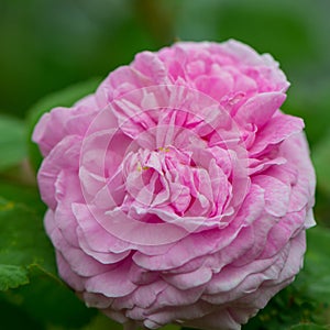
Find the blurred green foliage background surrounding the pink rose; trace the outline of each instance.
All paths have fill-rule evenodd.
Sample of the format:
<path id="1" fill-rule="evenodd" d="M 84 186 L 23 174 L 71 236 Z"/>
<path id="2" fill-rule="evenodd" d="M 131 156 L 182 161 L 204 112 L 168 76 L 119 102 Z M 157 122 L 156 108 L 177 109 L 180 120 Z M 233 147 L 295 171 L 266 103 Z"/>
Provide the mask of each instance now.
<path id="1" fill-rule="evenodd" d="M 319 228 L 308 232 L 305 270 L 243 329 L 327 329 L 329 13 L 328 0 L 0 0 L 0 239 L 1 248 L 9 246 L 0 249 L 1 329 L 121 329 L 86 309 L 56 277 L 42 226 L 45 207 L 26 162 L 28 154 L 34 167 L 40 162 L 30 142 L 36 119 L 92 91 L 98 81 L 92 77 L 107 76 L 142 50 L 176 40 L 227 38 L 280 63 L 292 82 L 284 111 L 304 118 L 318 175 Z M 26 237 L 26 226 L 33 238 Z"/>

